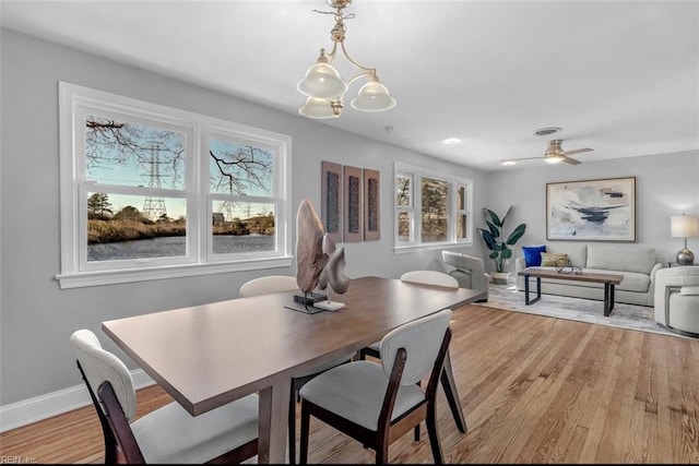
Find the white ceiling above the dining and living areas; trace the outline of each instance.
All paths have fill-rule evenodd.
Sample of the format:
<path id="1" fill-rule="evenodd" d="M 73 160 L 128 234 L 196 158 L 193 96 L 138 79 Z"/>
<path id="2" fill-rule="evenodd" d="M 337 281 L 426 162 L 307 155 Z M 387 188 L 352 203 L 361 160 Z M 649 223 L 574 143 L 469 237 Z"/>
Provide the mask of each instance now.
<path id="1" fill-rule="evenodd" d="M 4 27 L 293 115 L 296 83 L 332 46 L 332 15 L 313 12 L 331 11 L 324 0 L 0 1 Z M 543 156 L 554 136 L 533 132 L 546 127 L 562 128 L 564 150 L 594 148 L 582 163 L 699 150 L 698 1 L 355 0 L 344 12 L 356 15 L 347 51 L 398 106 L 363 113 L 348 97 L 324 124 L 487 171 Z M 533 164 L 550 167 L 518 166 Z"/>

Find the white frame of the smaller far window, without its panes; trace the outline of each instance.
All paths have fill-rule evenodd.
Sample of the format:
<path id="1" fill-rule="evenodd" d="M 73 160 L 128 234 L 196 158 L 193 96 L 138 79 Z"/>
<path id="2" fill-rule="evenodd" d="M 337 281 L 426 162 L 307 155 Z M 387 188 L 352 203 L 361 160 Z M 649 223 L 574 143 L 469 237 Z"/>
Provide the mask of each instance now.
<path id="1" fill-rule="evenodd" d="M 398 186 L 395 184 L 395 179 L 398 176 L 412 177 L 412 191 L 411 191 L 411 205 L 410 206 L 399 206 L 395 203 L 395 193 L 398 190 Z M 449 192 L 447 194 L 447 229 L 448 229 L 448 238 L 446 241 L 434 241 L 434 242 L 423 242 L 422 241 L 422 179 L 430 178 L 439 181 L 446 181 L 449 183 Z M 464 205 L 464 210 L 457 208 L 457 189 L 459 187 L 463 187 L 466 193 L 466 202 Z M 428 168 L 423 168 L 414 165 L 403 164 L 400 162 L 395 162 L 393 165 L 393 225 L 394 225 L 394 236 L 393 236 L 393 253 L 402 254 L 414 251 L 429 251 L 429 250 L 440 250 L 445 247 L 449 246 L 472 246 L 473 244 L 473 180 L 469 178 L 454 177 L 445 175 L 442 172 L 438 172 L 435 170 L 430 170 Z M 402 241 L 399 242 L 399 231 L 398 231 L 398 217 L 401 212 L 410 212 L 412 222 L 411 222 L 411 241 Z M 465 238 L 457 238 L 457 216 L 459 214 L 465 214 L 470 218 L 466 222 L 466 232 Z"/>

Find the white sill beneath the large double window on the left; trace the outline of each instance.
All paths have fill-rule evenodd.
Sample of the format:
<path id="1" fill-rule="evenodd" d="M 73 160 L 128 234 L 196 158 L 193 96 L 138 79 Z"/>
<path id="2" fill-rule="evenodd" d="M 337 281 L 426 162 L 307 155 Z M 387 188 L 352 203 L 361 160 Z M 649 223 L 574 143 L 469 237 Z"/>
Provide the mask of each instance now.
<path id="1" fill-rule="evenodd" d="M 146 282 L 165 278 L 181 278 L 197 275 L 210 275 L 227 272 L 253 271 L 260 268 L 288 267 L 292 256 L 256 259 L 213 264 L 186 264 L 161 266 L 153 268 L 83 272 L 76 274 L 59 274 L 56 279 L 60 289 L 83 288 L 88 286 L 115 285 L 121 283 Z"/>

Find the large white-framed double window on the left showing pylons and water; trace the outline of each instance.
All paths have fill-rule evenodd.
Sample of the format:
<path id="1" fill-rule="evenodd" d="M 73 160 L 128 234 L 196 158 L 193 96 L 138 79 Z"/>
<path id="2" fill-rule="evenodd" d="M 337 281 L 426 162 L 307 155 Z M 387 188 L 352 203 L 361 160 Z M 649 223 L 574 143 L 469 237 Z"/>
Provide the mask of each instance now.
<path id="1" fill-rule="evenodd" d="M 291 138 L 60 83 L 61 288 L 291 265 Z"/>

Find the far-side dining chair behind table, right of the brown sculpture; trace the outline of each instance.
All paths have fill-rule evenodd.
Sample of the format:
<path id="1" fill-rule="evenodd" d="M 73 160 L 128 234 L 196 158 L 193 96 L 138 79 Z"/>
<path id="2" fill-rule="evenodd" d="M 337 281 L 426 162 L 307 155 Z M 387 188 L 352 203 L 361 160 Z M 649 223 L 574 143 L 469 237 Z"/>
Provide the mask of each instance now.
<path id="1" fill-rule="evenodd" d="M 401 275 L 401 282 L 418 283 L 424 285 L 443 286 L 446 288 L 457 289 L 459 288 L 459 282 L 457 278 L 447 275 L 439 271 L 410 271 Z M 380 351 L 381 342 L 372 343 L 371 345 L 362 348 L 358 354 L 358 359 L 366 359 L 367 356 L 375 358 L 381 357 Z M 447 396 L 447 403 L 457 423 L 457 428 L 460 432 L 465 433 L 467 430 L 466 418 L 463 415 L 463 408 L 459 401 L 459 392 L 457 391 L 457 381 L 454 379 L 453 370 L 451 368 L 451 357 L 447 351 L 445 358 L 445 369 L 441 374 L 441 385 L 445 389 L 445 395 Z M 415 440 L 419 440 L 419 426 L 415 428 Z"/>

